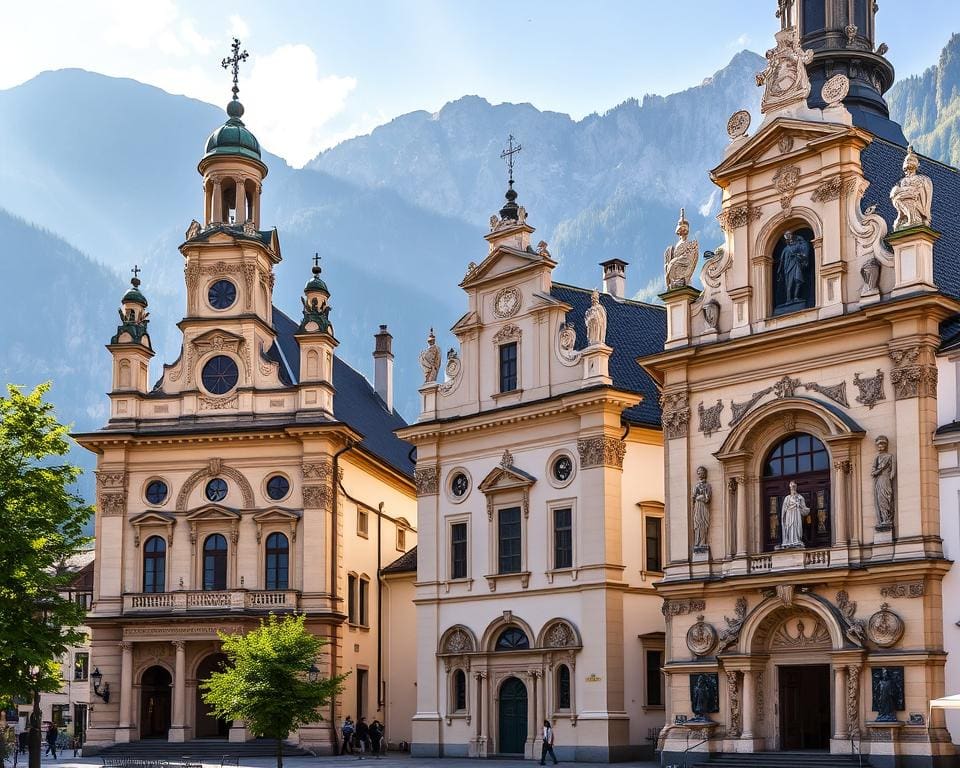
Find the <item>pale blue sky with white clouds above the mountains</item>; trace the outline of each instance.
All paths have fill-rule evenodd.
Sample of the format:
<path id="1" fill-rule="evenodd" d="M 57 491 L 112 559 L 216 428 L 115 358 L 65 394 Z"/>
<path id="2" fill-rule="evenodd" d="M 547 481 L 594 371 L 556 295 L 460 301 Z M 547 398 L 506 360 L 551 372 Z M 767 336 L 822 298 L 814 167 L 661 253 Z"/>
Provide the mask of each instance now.
<path id="1" fill-rule="evenodd" d="M 319 150 L 464 94 L 582 117 L 699 83 L 739 50 L 763 53 L 776 0 L 57 0 L 8 5 L 0 88 L 82 67 L 224 103 L 231 35 L 251 53 L 247 122 L 301 165 Z M 956 0 L 880 0 L 898 77 L 960 32 Z"/>

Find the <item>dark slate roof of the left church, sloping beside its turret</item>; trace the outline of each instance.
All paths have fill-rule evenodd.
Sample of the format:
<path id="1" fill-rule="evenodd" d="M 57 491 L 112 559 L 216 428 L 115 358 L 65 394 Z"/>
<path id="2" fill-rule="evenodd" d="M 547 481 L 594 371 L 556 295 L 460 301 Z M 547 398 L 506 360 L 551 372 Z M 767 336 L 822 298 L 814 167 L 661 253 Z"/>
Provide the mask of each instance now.
<path id="1" fill-rule="evenodd" d="M 296 384 L 300 380 L 300 347 L 294 334 L 299 326 L 274 307 L 273 327 L 277 331 L 277 344 L 271 347 L 267 357 L 280 362 L 281 371 L 291 379 L 290 384 Z M 412 478 L 412 446 L 394 434 L 394 430 L 407 426 L 403 417 L 395 410 L 389 412 L 366 377 L 336 355 L 333 358 L 333 386 L 336 389 L 334 418 L 363 435 L 362 448 Z"/>

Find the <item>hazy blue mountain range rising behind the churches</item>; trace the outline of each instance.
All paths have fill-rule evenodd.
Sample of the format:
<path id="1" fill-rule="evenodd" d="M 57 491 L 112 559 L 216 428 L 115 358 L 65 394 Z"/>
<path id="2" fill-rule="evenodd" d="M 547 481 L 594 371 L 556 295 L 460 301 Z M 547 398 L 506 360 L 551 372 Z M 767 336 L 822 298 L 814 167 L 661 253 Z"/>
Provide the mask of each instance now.
<path id="1" fill-rule="evenodd" d="M 652 298 L 681 206 L 702 247 L 720 238 L 707 172 L 722 157 L 730 114 L 757 117 L 753 76 L 763 66 L 744 51 L 695 87 L 582 120 L 465 96 L 400 116 L 303 169 L 266 153 L 262 220 L 278 227 L 284 256 L 275 303 L 296 315 L 319 252 L 341 357 L 372 375 L 372 336 L 388 323 L 397 407 L 413 418 L 417 351 L 431 326 L 442 346 L 455 342 L 447 329 L 464 308 L 456 285 L 486 254 L 482 235 L 506 187 L 507 134 L 523 145 L 519 202 L 559 261 L 555 278 L 598 286 L 597 263 L 619 257 L 630 262 L 628 292 Z M 918 149 L 960 161 L 960 36 L 889 100 Z M 154 377 L 179 352 L 177 246 L 200 218 L 196 164 L 223 120 L 209 104 L 82 70 L 0 91 L 0 321 L 12 329 L 0 373 L 24 385 L 53 378 L 59 415 L 77 429 L 106 417 L 103 344 L 134 263 L 151 303 Z"/>

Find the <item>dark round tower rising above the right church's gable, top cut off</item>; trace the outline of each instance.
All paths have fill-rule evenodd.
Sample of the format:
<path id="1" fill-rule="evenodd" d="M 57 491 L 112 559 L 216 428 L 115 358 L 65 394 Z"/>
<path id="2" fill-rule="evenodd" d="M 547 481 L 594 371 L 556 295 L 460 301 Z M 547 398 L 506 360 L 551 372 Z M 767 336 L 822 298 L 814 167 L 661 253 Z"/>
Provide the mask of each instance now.
<path id="1" fill-rule="evenodd" d="M 778 0 L 780 28 L 797 27 L 800 46 L 813 51 L 807 64 L 812 109 L 823 109 L 823 84 L 846 75 L 850 90 L 843 105 L 853 123 L 881 138 L 906 146 L 903 129 L 890 119 L 885 94 L 893 85 L 893 65 L 884 58 L 885 43 L 876 43 L 874 0 Z"/>

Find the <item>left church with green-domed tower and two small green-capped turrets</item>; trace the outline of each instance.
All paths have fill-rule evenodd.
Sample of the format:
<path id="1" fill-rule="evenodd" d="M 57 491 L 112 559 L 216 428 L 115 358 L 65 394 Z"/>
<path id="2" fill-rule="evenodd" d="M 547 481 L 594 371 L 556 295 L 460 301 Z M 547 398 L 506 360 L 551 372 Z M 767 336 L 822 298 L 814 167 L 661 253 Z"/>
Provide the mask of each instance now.
<path id="1" fill-rule="evenodd" d="M 291 734 L 332 752 L 345 714 L 388 722 L 413 688 L 385 685 L 379 568 L 416 544 L 409 446 L 393 434 L 391 336 L 371 386 L 335 353 L 330 292 L 313 267 L 293 320 L 273 304 L 277 231 L 261 228 L 267 167 L 237 99 L 198 170 L 203 220 L 180 246 L 187 307 L 179 358 L 150 386 L 147 298 L 134 277 L 108 345 L 110 419 L 77 435 L 97 457 L 87 747 L 158 739 L 246 741 L 200 685 L 218 632 L 298 612 L 329 643 L 323 676 L 349 672 L 323 722 Z M 225 62 L 226 66 L 226 62 Z M 408 615 L 404 615 L 404 613 Z M 395 626 L 411 605 L 391 609 Z M 381 634 L 383 632 L 383 634 Z M 402 665 L 402 662 L 401 662 Z M 402 733 L 398 715 L 398 731 Z"/>

